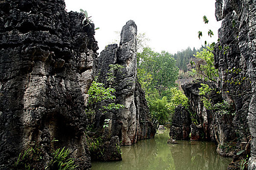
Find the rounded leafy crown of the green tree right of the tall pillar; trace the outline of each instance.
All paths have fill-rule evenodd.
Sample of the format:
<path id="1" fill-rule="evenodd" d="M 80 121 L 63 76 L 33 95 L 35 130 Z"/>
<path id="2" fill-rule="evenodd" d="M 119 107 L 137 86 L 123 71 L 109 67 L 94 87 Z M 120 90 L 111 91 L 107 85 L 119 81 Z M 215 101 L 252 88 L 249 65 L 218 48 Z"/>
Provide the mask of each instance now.
<path id="1" fill-rule="evenodd" d="M 146 90 L 150 88 L 163 90 L 175 85 L 178 68 L 173 55 L 166 51 L 158 53 L 150 48 L 144 48 L 141 53 L 137 54 L 137 58 L 138 80 L 139 83 L 146 85 Z"/>

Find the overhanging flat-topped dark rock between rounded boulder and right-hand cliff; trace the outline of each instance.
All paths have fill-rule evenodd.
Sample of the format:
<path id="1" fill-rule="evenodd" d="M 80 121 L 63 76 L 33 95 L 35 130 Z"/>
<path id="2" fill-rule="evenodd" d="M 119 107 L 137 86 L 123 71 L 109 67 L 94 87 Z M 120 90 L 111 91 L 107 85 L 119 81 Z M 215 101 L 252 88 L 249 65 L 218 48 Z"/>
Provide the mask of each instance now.
<path id="1" fill-rule="evenodd" d="M 209 85 L 213 90 L 208 95 L 199 95 L 201 84 Z M 189 99 L 189 110 L 192 113 L 191 140 L 211 140 L 218 144 L 217 152 L 224 156 L 233 156 L 234 151 L 227 148 L 236 139 L 232 114 L 222 114 L 216 110 L 208 110 L 201 99 L 211 100 L 212 105 L 222 102 L 217 94 L 217 85 L 213 82 L 193 81 L 182 85 Z"/>

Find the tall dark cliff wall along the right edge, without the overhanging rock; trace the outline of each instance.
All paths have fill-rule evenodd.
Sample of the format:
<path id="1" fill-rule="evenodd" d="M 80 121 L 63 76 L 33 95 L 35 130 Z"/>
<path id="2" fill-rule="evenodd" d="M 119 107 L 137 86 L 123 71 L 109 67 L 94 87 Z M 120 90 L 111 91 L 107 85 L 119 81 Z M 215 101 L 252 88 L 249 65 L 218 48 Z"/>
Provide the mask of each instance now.
<path id="1" fill-rule="evenodd" d="M 224 3 L 223 9 L 222 3 Z M 215 64 L 222 97 L 236 108 L 236 134 L 251 135 L 249 170 L 256 169 L 256 1 L 218 0 L 217 20 L 222 19 Z M 229 47 L 225 52 L 222 49 Z M 226 71 L 234 70 L 234 71 Z M 232 81 L 234 80 L 234 81 Z M 237 82 L 237 83 L 236 83 Z M 250 132 L 248 130 L 250 129 Z"/>

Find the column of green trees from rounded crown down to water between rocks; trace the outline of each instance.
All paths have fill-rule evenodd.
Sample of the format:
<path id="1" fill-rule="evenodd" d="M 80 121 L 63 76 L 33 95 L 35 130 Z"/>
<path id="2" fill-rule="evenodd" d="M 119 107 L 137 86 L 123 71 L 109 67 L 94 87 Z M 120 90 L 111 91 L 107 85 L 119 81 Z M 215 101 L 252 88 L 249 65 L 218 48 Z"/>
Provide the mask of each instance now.
<path id="1" fill-rule="evenodd" d="M 167 109 L 170 88 L 175 86 L 178 76 L 176 60 L 169 52 L 161 53 L 144 48 L 137 54 L 138 81 L 145 91 L 151 115 L 160 124 L 172 117 Z"/>

